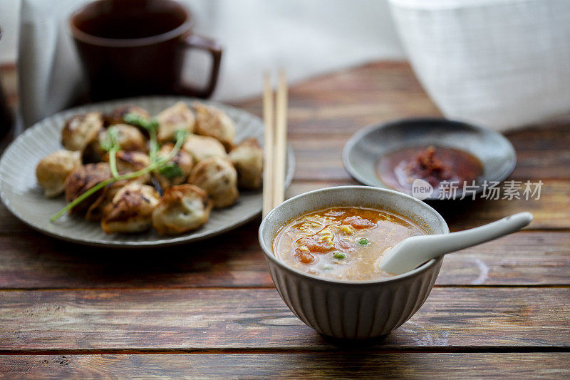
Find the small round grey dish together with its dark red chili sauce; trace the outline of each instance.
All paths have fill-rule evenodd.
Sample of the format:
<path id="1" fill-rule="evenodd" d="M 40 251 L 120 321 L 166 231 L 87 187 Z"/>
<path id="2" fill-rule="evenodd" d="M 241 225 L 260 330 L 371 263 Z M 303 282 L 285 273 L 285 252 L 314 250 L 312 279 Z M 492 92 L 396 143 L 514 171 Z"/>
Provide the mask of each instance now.
<path id="1" fill-rule="evenodd" d="M 494 130 L 441 118 L 410 118 L 359 130 L 344 145 L 343 165 L 353 178 L 364 185 L 390 188 L 412 195 L 412 181 L 421 178 L 421 175 L 418 177 L 417 171 L 413 173 L 414 168 L 410 173 L 408 166 L 415 160 L 425 160 L 421 156 L 426 155 L 425 150 L 432 148 L 436 152 L 435 165 L 441 164 L 441 161 L 443 164 L 455 161 L 451 167 L 445 165 L 452 170 L 447 170 L 449 173 L 443 178 L 449 180 L 447 182 L 459 180 L 458 189 L 452 196 L 440 197 L 437 187 L 434 187 L 434 191 L 420 199 L 457 199 L 462 195 L 464 179 L 466 185 L 472 185 L 472 180 L 475 180 L 477 194 L 483 190 L 484 181 L 499 183 L 512 173 L 517 164 L 517 155 L 509 140 Z M 455 158 L 450 157 L 450 153 L 455 153 Z M 462 153 L 463 157 L 457 156 L 457 153 Z M 472 175 L 465 175 L 465 164 L 473 164 L 469 162 L 471 158 L 481 168 L 471 168 Z M 408 164 L 404 165 L 406 168 L 400 168 L 405 163 Z M 431 164 L 434 165 L 434 162 Z M 403 169 L 408 169 L 408 175 L 403 173 Z M 390 170 L 392 173 L 389 173 Z M 431 177 L 432 173 L 427 173 L 427 176 Z M 404 184 L 403 176 L 410 183 Z"/>

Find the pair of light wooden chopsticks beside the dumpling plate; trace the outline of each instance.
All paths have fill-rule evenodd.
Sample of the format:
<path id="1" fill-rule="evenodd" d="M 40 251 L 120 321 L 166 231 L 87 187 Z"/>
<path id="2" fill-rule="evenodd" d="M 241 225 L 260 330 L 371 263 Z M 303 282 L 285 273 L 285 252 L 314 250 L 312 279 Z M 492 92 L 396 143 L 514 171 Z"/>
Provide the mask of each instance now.
<path id="1" fill-rule="evenodd" d="M 269 74 L 264 76 L 263 118 L 264 175 L 263 215 L 283 202 L 285 197 L 285 165 L 287 144 L 287 80 L 285 72 L 279 73 L 279 83 L 274 109 L 274 93 Z"/>

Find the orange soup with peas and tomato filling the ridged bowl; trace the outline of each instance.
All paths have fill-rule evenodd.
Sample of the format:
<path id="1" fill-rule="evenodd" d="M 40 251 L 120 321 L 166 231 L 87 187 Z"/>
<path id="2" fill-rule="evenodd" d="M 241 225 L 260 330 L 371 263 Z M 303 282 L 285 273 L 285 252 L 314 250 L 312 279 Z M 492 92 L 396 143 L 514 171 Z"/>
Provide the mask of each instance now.
<path id="1" fill-rule="evenodd" d="M 303 272 L 331 279 L 389 277 L 378 268 L 391 247 L 426 235 L 415 223 L 385 210 L 331 207 L 303 215 L 279 230 L 274 255 Z"/>

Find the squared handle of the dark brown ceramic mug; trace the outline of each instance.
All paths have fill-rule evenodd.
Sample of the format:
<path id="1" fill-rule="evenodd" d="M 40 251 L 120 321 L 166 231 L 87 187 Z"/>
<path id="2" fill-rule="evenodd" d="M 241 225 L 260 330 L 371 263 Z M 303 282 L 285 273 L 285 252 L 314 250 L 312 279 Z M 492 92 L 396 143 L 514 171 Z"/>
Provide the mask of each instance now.
<path id="1" fill-rule="evenodd" d="M 199 50 L 208 51 L 212 56 L 212 69 L 209 73 L 209 81 L 204 88 L 191 86 L 187 83 L 180 83 L 177 92 L 186 96 L 208 98 L 214 92 L 218 81 L 219 63 L 222 61 L 222 47 L 210 38 L 202 37 L 197 34 L 187 34 L 180 38 L 180 48 L 185 50 L 197 48 Z"/>

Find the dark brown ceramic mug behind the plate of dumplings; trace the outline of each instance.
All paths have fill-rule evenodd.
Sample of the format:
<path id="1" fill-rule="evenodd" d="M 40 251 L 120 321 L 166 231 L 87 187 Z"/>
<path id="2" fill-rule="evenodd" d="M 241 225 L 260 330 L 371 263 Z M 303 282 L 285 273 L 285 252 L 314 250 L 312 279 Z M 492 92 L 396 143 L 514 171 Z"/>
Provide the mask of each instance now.
<path id="1" fill-rule="evenodd" d="M 193 34 L 192 21 L 190 11 L 172 0 L 98 0 L 76 11 L 70 18 L 71 34 L 86 69 L 90 98 L 212 95 L 222 48 Z M 194 48 L 212 56 L 204 88 L 182 83 L 184 53 Z"/>

